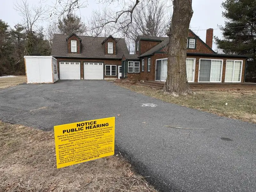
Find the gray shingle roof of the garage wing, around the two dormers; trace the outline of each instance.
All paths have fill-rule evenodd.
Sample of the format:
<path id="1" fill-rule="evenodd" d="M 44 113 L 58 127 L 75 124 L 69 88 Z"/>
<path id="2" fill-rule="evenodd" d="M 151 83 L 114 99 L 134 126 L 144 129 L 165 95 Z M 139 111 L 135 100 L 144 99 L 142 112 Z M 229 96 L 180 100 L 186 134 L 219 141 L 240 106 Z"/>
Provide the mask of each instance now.
<path id="1" fill-rule="evenodd" d="M 66 38 L 68 35 L 54 34 L 52 41 L 52 56 L 56 57 L 81 57 L 99 59 L 122 59 L 124 54 L 129 54 L 124 38 L 116 39 L 116 55 L 104 54 L 101 44 L 106 37 L 78 36 L 81 38 L 81 54 L 68 53 Z"/>

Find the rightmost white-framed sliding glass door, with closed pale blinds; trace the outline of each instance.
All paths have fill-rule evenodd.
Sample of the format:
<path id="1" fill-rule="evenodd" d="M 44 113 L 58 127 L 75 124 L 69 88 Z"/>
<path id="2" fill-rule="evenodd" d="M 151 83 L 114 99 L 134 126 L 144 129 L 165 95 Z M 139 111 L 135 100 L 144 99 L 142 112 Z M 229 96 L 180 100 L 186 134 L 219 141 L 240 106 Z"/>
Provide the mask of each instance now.
<path id="1" fill-rule="evenodd" d="M 227 60 L 225 82 L 241 82 L 243 61 Z"/>

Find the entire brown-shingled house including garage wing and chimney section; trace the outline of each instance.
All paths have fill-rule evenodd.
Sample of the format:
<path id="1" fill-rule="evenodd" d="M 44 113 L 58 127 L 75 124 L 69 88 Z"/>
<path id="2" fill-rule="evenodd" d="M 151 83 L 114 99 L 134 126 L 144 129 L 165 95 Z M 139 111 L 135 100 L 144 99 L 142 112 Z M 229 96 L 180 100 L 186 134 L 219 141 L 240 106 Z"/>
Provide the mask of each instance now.
<path id="1" fill-rule="evenodd" d="M 189 83 L 244 82 L 247 56 L 217 54 L 212 50 L 213 29 L 204 43 L 191 30 L 187 42 Z M 168 37 L 138 36 L 136 54 L 129 54 L 124 38 L 55 34 L 52 56 L 60 79 L 117 79 L 139 76 L 142 81 L 165 81 Z"/>

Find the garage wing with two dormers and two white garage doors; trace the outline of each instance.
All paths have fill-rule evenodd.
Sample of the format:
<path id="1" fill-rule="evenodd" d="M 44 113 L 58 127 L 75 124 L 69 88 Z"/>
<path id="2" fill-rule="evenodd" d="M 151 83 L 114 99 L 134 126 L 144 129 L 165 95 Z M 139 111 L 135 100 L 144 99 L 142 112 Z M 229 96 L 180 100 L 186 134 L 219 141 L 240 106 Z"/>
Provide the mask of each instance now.
<path id="1" fill-rule="evenodd" d="M 59 79 L 117 79 L 124 54 L 129 55 L 124 38 L 74 33 L 53 37 L 51 55 L 57 59 Z"/>

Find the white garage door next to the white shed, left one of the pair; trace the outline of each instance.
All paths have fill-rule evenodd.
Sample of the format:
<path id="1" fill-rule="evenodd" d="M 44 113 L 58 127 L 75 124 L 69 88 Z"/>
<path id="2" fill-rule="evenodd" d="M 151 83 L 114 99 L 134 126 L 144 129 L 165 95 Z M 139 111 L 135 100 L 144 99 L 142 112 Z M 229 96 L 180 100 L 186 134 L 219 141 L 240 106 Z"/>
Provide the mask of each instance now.
<path id="1" fill-rule="evenodd" d="M 60 79 L 81 79 L 80 62 L 60 62 Z"/>

